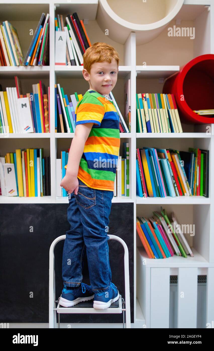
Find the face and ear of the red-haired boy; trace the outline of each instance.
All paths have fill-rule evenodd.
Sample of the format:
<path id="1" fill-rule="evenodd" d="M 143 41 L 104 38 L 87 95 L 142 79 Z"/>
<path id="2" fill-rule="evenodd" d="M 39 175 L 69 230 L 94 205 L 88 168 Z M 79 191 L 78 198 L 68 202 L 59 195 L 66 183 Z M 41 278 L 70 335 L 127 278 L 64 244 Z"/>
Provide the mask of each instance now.
<path id="1" fill-rule="evenodd" d="M 112 59 L 111 63 L 107 61 L 95 62 L 91 66 L 91 72 L 88 73 L 83 69 L 83 76 L 89 82 L 90 89 L 94 89 L 102 95 L 108 95 L 117 82 L 117 61 Z"/>

